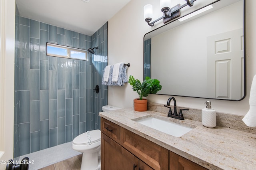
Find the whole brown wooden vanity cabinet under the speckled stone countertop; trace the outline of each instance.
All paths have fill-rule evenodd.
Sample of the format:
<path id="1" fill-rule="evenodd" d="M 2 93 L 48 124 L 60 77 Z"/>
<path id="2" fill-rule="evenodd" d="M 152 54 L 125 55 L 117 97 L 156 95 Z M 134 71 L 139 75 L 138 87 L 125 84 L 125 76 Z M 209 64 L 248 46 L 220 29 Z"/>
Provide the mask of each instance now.
<path id="1" fill-rule="evenodd" d="M 101 118 L 101 169 L 206 170 L 104 118 Z"/>

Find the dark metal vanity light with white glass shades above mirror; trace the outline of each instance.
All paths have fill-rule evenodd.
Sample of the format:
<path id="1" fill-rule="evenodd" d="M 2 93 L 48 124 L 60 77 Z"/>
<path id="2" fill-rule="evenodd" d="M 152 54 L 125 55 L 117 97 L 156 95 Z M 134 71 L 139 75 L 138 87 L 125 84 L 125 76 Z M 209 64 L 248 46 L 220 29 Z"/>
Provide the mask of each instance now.
<path id="1" fill-rule="evenodd" d="M 151 4 L 146 4 L 144 6 L 144 20 L 148 23 L 149 26 L 154 26 L 155 22 L 158 22 L 159 20 L 164 19 L 164 24 L 166 22 L 169 22 L 170 20 L 179 17 L 180 16 L 180 9 L 185 6 L 193 6 L 194 1 L 196 0 L 185 0 L 187 3 L 180 6 L 180 4 L 177 4 L 176 6 L 172 7 L 170 9 L 171 1 L 170 0 L 160 0 L 160 7 L 162 8 L 162 12 L 164 15 L 154 21 L 152 21 L 153 16 L 153 6 Z M 151 22 L 152 21 L 152 22 Z"/>

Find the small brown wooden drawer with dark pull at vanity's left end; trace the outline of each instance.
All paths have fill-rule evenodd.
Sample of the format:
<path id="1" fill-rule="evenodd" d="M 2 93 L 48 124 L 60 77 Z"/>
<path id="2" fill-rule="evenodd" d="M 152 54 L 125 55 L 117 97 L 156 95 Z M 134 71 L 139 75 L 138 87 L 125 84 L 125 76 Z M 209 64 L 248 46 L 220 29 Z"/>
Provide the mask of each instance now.
<path id="1" fill-rule="evenodd" d="M 101 132 L 120 144 L 120 126 L 104 118 L 100 118 L 100 123 Z"/>

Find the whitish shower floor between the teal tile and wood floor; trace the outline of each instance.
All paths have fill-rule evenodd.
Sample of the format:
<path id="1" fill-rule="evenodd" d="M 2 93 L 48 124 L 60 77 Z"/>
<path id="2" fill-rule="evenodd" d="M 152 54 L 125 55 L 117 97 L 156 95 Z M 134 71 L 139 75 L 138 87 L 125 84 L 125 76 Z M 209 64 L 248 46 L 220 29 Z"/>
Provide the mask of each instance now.
<path id="1" fill-rule="evenodd" d="M 60 144 L 58 146 L 22 155 L 20 156 L 20 160 L 24 157 L 28 157 L 32 163 L 29 165 L 29 170 L 38 170 L 81 154 L 81 152 L 73 150 L 71 146 L 72 142 Z"/>

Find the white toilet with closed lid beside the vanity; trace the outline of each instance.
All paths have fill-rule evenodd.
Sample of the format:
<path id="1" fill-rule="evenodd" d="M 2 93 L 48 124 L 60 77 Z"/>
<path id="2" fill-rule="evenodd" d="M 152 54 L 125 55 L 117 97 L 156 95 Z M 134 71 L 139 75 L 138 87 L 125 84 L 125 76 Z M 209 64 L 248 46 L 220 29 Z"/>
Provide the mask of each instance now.
<path id="1" fill-rule="evenodd" d="M 106 105 L 102 107 L 103 111 L 112 111 L 121 109 Z M 100 170 L 100 130 L 90 130 L 76 136 L 72 142 L 72 148 L 82 152 L 81 170 Z"/>

